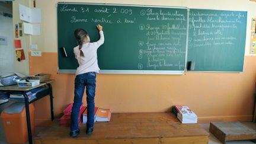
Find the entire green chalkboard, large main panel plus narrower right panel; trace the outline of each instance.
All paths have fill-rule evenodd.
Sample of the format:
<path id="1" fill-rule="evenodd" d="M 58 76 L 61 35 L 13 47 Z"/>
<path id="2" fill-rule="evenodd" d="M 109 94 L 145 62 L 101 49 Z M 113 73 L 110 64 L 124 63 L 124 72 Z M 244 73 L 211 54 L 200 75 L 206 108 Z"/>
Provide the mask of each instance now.
<path id="1" fill-rule="evenodd" d="M 84 28 L 97 41 L 97 24 L 105 36 L 97 52 L 105 73 L 183 73 L 187 61 L 193 71 L 243 71 L 245 11 L 59 2 L 58 47 L 68 54 L 58 53 L 60 72 L 78 67 L 73 31 Z"/>

